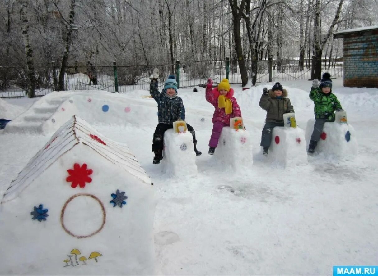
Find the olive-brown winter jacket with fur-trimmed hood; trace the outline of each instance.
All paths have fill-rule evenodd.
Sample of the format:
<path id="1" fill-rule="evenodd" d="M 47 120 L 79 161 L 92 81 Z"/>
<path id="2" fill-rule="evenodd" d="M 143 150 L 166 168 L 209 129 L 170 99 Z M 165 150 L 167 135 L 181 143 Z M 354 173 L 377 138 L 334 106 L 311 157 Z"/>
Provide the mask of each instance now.
<path id="1" fill-rule="evenodd" d="M 290 99 L 287 98 L 287 90 L 283 89 L 282 99 L 277 99 L 274 91 L 270 89 L 268 95 L 262 95 L 259 106 L 266 110 L 266 122 L 283 122 L 283 114 L 294 112 L 294 106 L 291 105 Z"/>

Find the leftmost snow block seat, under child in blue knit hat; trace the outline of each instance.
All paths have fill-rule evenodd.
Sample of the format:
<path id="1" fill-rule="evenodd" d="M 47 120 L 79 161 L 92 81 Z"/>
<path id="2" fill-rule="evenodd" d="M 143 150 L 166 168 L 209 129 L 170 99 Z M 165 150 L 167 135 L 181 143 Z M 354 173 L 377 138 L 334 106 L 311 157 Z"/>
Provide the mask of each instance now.
<path id="1" fill-rule="evenodd" d="M 162 163 L 168 175 L 195 175 L 197 173 L 195 158 L 192 133 L 189 131 L 177 133 L 173 129 L 168 129 L 164 133 Z"/>

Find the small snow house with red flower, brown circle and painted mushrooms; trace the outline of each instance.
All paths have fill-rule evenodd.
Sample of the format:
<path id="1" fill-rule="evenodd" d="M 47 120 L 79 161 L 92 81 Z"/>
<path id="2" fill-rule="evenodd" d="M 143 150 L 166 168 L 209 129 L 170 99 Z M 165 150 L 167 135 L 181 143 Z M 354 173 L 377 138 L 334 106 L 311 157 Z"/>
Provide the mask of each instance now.
<path id="1" fill-rule="evenodd" d="M 74 116 L 4 193 L 0 274 L 153 274 L 155 205 L 129 148 Z"/>

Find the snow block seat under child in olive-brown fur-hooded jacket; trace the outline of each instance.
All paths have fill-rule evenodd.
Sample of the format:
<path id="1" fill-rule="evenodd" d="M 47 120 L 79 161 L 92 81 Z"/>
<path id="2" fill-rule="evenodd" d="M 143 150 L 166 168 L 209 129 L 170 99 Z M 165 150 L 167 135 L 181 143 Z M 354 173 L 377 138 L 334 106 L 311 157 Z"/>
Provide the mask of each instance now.
<path id="1" fill-rule="evenodd" d="M 274 127 L 266 157 L 284 167 L 307 164 L 304 130 L 299 127 Z"/>

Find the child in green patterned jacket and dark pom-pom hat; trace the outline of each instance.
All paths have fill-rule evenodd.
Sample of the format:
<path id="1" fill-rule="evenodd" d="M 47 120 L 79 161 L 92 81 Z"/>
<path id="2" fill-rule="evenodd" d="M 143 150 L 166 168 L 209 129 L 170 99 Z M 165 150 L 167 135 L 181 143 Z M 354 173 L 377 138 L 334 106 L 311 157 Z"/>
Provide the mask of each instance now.
<path id="1" fill-rule="evenodd" d="M 335 110 L 342 110 L 336 95 L 332 93 L 332 80 L 329 73 L 324 73 L 320 83 L 317 79 L 312 81 L 310 99 L 314 101 L 315 124 L 311 135 L 308 153 L 314 153 L 322 134 L 324 123 L 335 121 Z"/>

